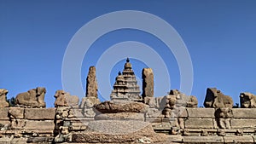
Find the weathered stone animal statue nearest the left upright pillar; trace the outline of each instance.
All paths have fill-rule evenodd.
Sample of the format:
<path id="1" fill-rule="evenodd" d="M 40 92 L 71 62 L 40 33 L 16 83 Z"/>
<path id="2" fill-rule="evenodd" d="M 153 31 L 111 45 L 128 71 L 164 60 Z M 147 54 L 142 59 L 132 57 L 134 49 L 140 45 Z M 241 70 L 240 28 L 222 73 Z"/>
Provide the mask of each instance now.
<path id="1" fill-rule="evenodd" d="M 69 107 L 78 106 L 79 97 L 76 95 L 70 95 L 64 90 L 57 90 L 55 92 L 55 107 Z"/>

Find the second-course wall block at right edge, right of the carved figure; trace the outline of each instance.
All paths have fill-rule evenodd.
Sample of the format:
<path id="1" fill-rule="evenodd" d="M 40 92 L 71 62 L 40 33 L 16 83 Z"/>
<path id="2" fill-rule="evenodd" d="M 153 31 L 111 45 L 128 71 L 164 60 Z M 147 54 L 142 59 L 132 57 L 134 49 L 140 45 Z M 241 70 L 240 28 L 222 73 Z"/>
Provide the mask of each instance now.
<path id="1" fill-rule="evenodd" d="M 241 129 L 241 128 L 254 128 L 256 127 L 255 119 L 231 119 L 231 128 Z"/>

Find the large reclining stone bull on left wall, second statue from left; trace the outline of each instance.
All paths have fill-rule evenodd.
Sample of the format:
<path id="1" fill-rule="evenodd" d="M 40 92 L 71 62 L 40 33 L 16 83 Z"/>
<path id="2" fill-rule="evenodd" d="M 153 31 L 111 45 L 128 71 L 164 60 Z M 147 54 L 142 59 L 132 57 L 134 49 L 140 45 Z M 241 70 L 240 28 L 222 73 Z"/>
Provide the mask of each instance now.
<path id="1" fill-rule="evenodd" d="M 44 87 L 30 89 L 27 92 L 20 93 L 16 96 L 15 105 L 22 107 L 45 107 L 45 93 L 46 89 Z"/>

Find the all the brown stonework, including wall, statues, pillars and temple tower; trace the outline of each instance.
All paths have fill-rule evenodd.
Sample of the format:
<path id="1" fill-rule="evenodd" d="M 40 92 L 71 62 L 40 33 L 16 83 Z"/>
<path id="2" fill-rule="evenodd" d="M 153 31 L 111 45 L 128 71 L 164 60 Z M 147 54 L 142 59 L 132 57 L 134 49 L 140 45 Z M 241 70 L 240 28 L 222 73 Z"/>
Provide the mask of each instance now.
<path id="1" fill-rule="evenodd" d="M 207 88 L 204 107 L 194 95 L 171 89 L 154 95 L 154 72 L 142 71 L 143 92 L 127 58 L 113 84 L 110 101 L 97 95 L 96 67 L 90 66 L 86 95 L 56 90 L 46 108 L 46 88 L 20 93 L 15 107 L 0 89 L 0 144 L 25 143 L 256 143 L 256 95 L 241 92 L 241 108 L 221 90 Z"/>

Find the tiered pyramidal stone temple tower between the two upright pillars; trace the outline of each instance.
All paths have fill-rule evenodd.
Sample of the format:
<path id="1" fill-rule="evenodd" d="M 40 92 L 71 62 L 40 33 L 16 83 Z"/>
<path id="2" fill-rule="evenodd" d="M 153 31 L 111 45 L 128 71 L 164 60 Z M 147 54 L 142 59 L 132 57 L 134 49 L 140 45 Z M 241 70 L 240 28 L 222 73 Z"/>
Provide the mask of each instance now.
<path id="1" fill-rule="evenodd" d="M 111 100 L 142 101 L 140 88 L 137 85 L 136 75 L 132 70 L 129 58 L 127 58 L 123 72 L 115 78 Z"/>

